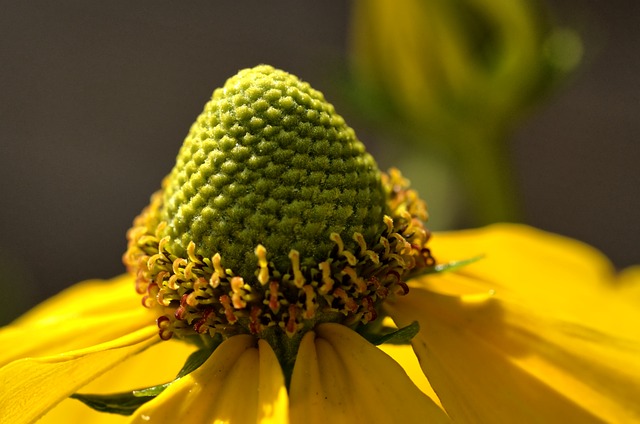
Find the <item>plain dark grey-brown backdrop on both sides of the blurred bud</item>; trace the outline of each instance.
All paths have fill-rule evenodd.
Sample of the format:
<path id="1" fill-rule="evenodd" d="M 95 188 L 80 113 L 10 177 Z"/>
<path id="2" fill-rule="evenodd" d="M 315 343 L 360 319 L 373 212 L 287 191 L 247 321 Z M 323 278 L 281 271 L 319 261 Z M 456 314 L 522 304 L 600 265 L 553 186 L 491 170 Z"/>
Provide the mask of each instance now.
<path id="1" fill-rule="evenodd" d="M 551 4 L 584 33 L 586 56 L 514 138 L 527 222 L 589 242 L 619 267 L 640 263 L 640 2 Z M 0 323 L 74 282 L 122 272 L 133 217 L 238 69 L 297 74 L 358 132 L 332 82 L 349 6 L 0 1 Z"/>

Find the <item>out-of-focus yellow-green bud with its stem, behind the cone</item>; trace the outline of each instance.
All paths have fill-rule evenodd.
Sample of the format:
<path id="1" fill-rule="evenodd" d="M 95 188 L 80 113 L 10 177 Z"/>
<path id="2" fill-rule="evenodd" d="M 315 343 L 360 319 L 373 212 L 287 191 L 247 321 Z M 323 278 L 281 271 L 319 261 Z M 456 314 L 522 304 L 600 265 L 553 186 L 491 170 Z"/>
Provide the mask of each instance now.
<path id="1" fill-rule="evenodd" d="M 414 141 L 423 169 L 433 168 L 424 160 L 434 154 L 448 162 L 466 190 L 471 222 L 518 219 L 507 136 L 580 61 L 578 36 L 552 26 L 542 6 L 354 2 L 349 59 L 356 100 L 374 121 L 394 123 L 401 140 Z"/>

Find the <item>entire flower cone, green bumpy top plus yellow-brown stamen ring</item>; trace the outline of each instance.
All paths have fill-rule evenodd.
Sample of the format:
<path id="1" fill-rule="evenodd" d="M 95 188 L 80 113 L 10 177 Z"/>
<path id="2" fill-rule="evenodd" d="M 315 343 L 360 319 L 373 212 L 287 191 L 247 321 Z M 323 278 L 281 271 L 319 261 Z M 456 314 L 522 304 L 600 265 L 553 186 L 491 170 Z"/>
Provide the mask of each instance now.
<path id="1" fill-rule="evenodd" d="M 366 324 L 406 293 L 434 265 L 426 219 L 322 94 L 260 66 L 214 92 L 124 262 L 163 339 L 294 338 L 318 322 Z"/>

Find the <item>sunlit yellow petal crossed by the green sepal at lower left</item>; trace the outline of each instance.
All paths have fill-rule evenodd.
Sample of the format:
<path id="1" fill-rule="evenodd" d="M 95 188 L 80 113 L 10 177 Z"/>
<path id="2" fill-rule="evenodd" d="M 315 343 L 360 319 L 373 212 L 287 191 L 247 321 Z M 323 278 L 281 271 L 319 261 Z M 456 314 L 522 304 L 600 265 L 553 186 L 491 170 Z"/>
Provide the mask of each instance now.
<path id="1" fill-rule="evenodd" d="M 116 365 L 82 388 L 81 393 L 108 394 L 151 387 L 172 381 L 196 349 L 179 340 L 157 343 Z M 38 424 L 126 423 L 130 417 L 95 411 L 76 399 L 65 399 L 49 411 Z"/>

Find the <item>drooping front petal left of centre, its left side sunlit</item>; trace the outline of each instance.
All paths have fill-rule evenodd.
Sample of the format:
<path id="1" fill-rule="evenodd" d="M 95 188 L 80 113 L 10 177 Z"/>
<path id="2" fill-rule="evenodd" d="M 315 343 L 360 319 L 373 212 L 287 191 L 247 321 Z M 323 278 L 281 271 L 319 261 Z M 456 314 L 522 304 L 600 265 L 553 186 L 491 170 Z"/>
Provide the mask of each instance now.
<path id="1" fill-rule="evenodd" d="M 132 423 L 287 423 L 287 393 L 271 347 L 249 335 L 223 342 L 200 368 L 140 407 Z"/>

